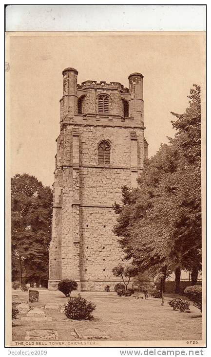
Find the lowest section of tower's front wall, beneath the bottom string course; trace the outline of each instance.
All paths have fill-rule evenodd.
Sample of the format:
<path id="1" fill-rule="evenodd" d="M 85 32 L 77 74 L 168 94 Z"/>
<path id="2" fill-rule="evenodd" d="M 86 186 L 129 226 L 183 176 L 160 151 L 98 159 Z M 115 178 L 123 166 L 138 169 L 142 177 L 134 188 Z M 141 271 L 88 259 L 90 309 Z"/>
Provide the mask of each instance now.
<path id="1" fill-rule="evenodd" d="M 115 285 L 112 268 L 123 253 L 112 233 L 115 215 L 112 208 L 81 207 L 80 279 L 81 290 L 104 290 Z"/>

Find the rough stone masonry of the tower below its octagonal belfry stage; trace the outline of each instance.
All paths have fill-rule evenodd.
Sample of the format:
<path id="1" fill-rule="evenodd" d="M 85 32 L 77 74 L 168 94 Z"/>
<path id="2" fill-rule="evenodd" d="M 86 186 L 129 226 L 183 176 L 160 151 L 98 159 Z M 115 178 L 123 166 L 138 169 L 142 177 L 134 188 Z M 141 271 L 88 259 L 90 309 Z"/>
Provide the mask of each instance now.
<path id="1" fill-rule="evenodd" d="M 112 204 L 120 202 L 121 186 L 131 185 L 132 130 L 77 125 L 74 128 L 79 135 L 80 167 L 77 172 L 72 166 L 73 126 L 64 128 L 58 140 L 54 187 L 54 205 L 58 208 L 54 208 L 56 232 L 51 243 L 50 265 L 54 272 L 51 278 L 79 278 L 82 290 L 103 290 L 107 284 L 112 289 L 119 281 L 113 276 L 112 268 L 122 259 L 117 237 L 112 232 L 116 223 Z M 135 133 L 137 166 L 141 167 L 144 157 L 143 131 L 136 129 Z M 110 165 L 106 167 L 98 165 L 97 146 L 101 140 L 107 140 L 111 146 Z M 79 181 L 74 183 L 74 177 L 78 175 Z M 77 199 L 74 186 L 79 190 L 79 206 L 73 206 Z M 78 217 L 79 245 L 74 243 Z M 79 276 L 76 272 L 77 259 Z"/>

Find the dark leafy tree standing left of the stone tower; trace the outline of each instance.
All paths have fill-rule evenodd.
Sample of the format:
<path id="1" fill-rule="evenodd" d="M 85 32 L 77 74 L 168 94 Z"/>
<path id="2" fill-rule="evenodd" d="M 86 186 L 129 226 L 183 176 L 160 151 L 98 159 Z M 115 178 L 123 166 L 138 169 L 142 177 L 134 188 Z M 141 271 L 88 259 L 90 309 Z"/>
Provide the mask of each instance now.
<path id="1" fill-rule="evenodd" d="M 48 277 L 53 194 L 28 174 L 11 179 L 12 276 Z"/>

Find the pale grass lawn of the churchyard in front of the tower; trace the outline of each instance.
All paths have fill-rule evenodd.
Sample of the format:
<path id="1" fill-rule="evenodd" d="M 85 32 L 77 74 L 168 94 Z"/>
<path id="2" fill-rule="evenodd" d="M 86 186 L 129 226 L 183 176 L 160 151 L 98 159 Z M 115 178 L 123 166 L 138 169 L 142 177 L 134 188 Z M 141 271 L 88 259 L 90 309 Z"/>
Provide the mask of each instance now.
<path id="1" fill-rule="evenodd" d="M 13 290 L 13 301 L 27 302 L 28 292 Z M 76 296 L 73 291 L 71 296 Z M 96 303 L 94 320 L 76 321 L 67 319 L 64 313 L 56 310 L 44 310 L 52 321 L 20 321 L 14 320 L 13 341 L 24 340 L 26 331 L 34 329 L 53 329 L 58 332 L 58 340 L 76 340 L 73 335 L 76 328 L 98 328 L 110 340 L 201 340 L 202 318 L 192 318 L 200 311 L 190 306 L 191 313 L 173 311 L 168 301 L 173 296 L 165 297 L 161 307 L 161 299 L 136 300 L 131 297 L 119 297 L 115 292 L 82 291 L 82 297 Z M 178 297 L 178 295 L 177 295 Z M 39 291 L 39 301 L 31 306 L 43 307 L 45 303 L 63 305 L 68 301 L 60 291 Z M 192 304 L 192 303 L 191 303 Z"/>

